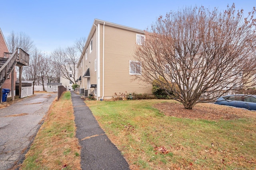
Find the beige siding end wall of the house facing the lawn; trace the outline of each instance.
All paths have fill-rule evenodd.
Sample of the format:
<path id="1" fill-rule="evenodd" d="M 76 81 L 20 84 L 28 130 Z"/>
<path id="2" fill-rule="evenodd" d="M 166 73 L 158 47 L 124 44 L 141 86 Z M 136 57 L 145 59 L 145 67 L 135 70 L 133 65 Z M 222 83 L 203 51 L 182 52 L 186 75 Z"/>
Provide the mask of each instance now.
<path id="1" fill-rule="evenodd" d="M 104 97 L 115 93 L 151 93 L 151 85 L 129 74 L 130 60 L 135 60 L 136 32 L 105 26 L 104 44 Z"/>

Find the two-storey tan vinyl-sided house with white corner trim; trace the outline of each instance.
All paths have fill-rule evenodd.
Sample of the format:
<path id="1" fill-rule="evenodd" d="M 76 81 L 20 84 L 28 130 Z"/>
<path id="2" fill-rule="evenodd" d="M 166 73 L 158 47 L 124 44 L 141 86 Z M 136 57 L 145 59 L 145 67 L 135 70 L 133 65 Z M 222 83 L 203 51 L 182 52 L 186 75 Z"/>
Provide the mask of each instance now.
<path id="1" fill-rule="evenodd" d="M 135 61 L 137 36 L 144 38 L 144 31 L 94 20 L 78 63 L 80 88 L 90 89 L 97 100 L 110 99 L 115 93 L 152 93 L 152 85 L 135 79 L 134 73 L 140 69 L 130 68 Z"/>

